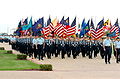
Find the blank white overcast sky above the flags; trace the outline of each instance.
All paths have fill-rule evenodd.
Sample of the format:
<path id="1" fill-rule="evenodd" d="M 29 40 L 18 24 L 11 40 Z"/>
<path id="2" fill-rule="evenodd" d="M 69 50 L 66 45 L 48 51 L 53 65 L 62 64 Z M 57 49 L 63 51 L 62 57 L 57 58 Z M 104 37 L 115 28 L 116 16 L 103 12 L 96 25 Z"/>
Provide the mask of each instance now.
<path id="1" fill-rule="evenodd" d="M 112 24 L 120 19 L 120 0 L 1 0 L 0 32 L 10 32 L 17 28 L 18 22 L 26 17 L 33 21 L 49 15 L 59 20 L 70 17 L 70 22 L 77 17 L 77 22 L 93 18 L 97 24 L 103 17 L 111 19 Z"/>

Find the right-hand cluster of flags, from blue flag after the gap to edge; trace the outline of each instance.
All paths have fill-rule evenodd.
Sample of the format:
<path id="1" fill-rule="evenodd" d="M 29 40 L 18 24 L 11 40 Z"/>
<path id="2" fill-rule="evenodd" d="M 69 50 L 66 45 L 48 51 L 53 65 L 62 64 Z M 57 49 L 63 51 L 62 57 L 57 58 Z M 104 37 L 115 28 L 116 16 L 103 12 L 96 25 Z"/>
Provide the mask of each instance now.
<path id="1" fill-rule="evenodd" d="M 88 35 L 94 39 L 99 39 L 105 35 L 109 37 L 116 38 L 119 35 L 120 27 L 118 24 L 118 19 L 115 24 L 112 26 L 110 20 L 108 19 L 104 22 L 104 18 L 97 24 L 97 27 L 94 27 L 93 20 L 88 20 L 87 24 L 83 20 L 81 25 L 80 36 Z"/>

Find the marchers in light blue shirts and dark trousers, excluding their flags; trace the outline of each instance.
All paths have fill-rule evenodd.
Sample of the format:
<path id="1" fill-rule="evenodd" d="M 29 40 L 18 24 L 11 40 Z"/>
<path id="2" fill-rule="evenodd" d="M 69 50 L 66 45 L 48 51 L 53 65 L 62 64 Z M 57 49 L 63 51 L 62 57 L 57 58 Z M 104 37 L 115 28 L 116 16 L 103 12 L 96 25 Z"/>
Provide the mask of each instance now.
<path id="1" fill-rule="evenodd" d="M 12 49 L 26 54 L 32 58 L 43 60 L 52 57 L 66 57 L 76 59 L 79 56 L 96 58 L 98 54 L 105 63 L 110 64 L 112 52 L 116 58 L 116 63 L 120 62 L 120 38 L 111 39 L 110 37 L 93 40 L 91 37 L 82 38 L 52 38 L 44 39 L 40 36 L 12 36 L 8 37 Z M 6 40 L 8 40 L 6 39 Z M 5 40 L 4 40 L 5 41 Z M 113 49 L 113 51 L 112 51 Z"/>

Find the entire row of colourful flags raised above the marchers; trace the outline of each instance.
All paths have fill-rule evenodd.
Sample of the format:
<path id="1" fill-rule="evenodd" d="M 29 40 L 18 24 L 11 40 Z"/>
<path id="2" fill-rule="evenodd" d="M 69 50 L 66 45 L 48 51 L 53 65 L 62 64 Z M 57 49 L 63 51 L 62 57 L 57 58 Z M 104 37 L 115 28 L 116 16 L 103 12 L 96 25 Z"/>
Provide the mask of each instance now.
<path id="1" fill-rule="evenodd" d="M 111 25 L 111 21 L 108 19 L 104 22 L 104 18 L 97 24 L 96 28 L 92 19 L 88 20 L 87 23 L 85 18 L 82 21 L 82 24 L 76 25 L 76 17 L 73 22 L 69 23 L 69 17 L 62 17 L 61 21 L 58 21 L 57 18 L 51 20 L 49 17 L 47 22 L 44 22 L 44 17 L 38 19 L 33 23 L 32 17 L 28 22 L 28 18 L 24 21 L 21 20 L 18 23 L 17 30 L 14 32 L 18 36 L 23 35 L 32 35 L 39 36 L 43 35 L 45 38 L 48 36 L 58 36 L 61 38 L 67 38 L 69 36 L 76 35 L 78 37 L 89 36 L 94 39 L 99 39 L 102 36 L 108 35 L 110 37 L 117 37 L 119 35 L 119 24 L 118 19 L 116 20 L 114 25 Z"/>

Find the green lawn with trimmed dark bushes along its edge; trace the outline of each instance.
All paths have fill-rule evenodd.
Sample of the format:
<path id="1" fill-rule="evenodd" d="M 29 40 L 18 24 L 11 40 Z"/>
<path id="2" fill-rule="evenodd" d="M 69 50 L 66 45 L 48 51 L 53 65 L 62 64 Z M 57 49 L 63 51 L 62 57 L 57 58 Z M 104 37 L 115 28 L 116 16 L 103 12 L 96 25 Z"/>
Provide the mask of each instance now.
<path id="1" fill-rule="evenodd" d="M 3 53 L 4 52 L 4 53 Z M 28 60 L 16 60 L 15 54 L 7 54 L 6 50 L 0 50 L 0 71 L 39 69 L 39 65 Z"/>

